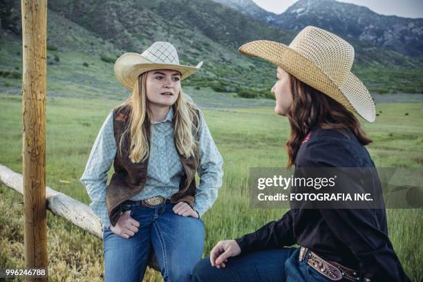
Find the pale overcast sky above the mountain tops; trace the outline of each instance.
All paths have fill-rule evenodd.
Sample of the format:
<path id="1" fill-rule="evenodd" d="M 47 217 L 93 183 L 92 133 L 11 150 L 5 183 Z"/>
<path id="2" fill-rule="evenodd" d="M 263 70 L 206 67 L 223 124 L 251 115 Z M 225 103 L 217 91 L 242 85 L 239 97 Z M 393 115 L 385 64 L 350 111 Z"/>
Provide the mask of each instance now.
<path id="1" fill-rule="evenodd" d="M 297 0 L 253 0 L 261 8 L 280 14 Z M 382 15 L 397 15 L 400 17 L 423 18 L 423 0 L 338 0 L 366 6 Z"/>

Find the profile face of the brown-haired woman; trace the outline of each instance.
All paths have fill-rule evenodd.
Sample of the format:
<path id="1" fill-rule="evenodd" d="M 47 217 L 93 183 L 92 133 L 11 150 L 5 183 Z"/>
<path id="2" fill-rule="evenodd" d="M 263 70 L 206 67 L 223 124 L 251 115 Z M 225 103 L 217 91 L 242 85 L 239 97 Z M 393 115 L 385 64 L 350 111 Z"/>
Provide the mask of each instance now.
<path id="1" fill-rule="evenodd" d="M 275 113 L 278 115 L 286 115 L 288 109 L 292 104 L 292 93 L 290 87 L 290 77 L 282 68 L 276 69 L 276 83 L 272 87 L 272 93 L 276 97 L 276 106 L 274 107 Z"/>

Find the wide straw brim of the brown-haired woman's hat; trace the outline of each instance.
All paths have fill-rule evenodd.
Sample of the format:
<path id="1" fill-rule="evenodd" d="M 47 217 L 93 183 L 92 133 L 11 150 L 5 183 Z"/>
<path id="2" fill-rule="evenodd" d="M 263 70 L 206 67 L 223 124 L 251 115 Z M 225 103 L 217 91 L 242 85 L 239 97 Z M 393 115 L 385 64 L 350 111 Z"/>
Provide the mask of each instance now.
<path id="1" fill-rule="evenodd" d="M 325 93 L 354 111 L 368 122 L 375 120 L 376 110 L 372 96 L 366 86 L 350 73 L 343 86 L 338 86 L 324 71 L 296 50 L 275 41 L 257 40 L 238 49 L 244 55 L 260 57 L 280 66 L 305 84 Z"/>

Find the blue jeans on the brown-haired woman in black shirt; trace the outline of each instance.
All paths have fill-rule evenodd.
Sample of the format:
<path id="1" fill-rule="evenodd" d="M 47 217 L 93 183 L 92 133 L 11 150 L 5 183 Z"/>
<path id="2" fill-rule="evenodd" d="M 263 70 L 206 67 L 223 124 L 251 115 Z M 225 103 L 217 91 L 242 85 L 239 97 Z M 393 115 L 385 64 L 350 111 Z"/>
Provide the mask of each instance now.
<path id="1" fill-rule="evenodd" d="M 310 256 L 307 251 L 305 259 Z M 210 259 L 200 261 L 194 268 L 194 282 L 328 282 L 332 281 L 306 263 L 299 261 L 299 248 L 252 252 L 229 258 L 225 268 L 212 267 Z M 341 279 L 340 281 L 347 281 Z"/>

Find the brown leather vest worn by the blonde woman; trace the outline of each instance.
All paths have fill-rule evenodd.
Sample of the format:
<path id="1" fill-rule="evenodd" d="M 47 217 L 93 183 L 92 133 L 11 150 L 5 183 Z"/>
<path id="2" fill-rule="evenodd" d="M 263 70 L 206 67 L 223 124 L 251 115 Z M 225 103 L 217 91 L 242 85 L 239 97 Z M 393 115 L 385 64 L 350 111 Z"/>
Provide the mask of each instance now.
<path id="1" fill-rule="evenodd" d="M 197 114 L 199 114 L 197 112 Z M 126 133 L 125 142 L 120 148 L 120 137 L 124 133 L 126 126 L 129 125 L 129 116 L 131 115 L 130 106 L 119 106 L 113 111 L 113 130 L 115 131 L 116 156 L 113 162 L 115 173 L 111 177 L 110 183 L 106 188 L 106 205 L 109 212 L 111 225 L 115 226 L 121 212 L 121 205 L 125 200 L 129 200 L 144 188 L 147 180 L 147 164 L 149 159 L 142 162 L 133 163 L 129 158 L 129 132 Z M 194 119 L 196 120 L 196 119 Z M 175 128 L 175 119 L 173 118 L 173 128 Z M 147 130 L 147 140 L 150 143 L 150 122 L 144 122 Z M 198 124 L 194 124 L 198 126 Z M 195 135 L 198 140 L 198 134 Z M 176 144 L 176 140 L 175 140 Z M 121 154 L 122 151 L 122 154 Z M 178 151 L 178 150 L 177 150 Z M 179 153 L 179 151 L 178 151 Z M 172 203 L 187 202 L 194 204 L 196 194 L 195 175 L 198 168 L 198 148 L 194 156 L 185 158 L 180 157 L 180 162 L 184 168 L 185 175 L 180 182 L 179 191 L 171 196 Z"/>

